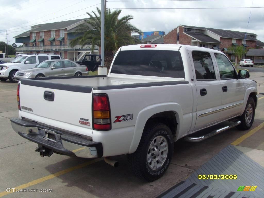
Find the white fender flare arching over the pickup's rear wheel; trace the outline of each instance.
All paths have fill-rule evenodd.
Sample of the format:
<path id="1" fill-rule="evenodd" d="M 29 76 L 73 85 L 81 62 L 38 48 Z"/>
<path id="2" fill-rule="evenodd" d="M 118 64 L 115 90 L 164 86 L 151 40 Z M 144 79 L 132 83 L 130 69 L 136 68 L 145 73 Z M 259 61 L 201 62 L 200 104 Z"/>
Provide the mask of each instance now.
<path id="1" fill-rule="evenodd" d="M 139 145 L 142 133 L 143 133 L 143 129 L 148 119 L 152 115 L 155 115 L 157 113 L 164 112 L 164 111 L 173 111 L 175 113 L 177 123 L 182 123 L 183 114 L 182 114 L 181 106 L 178 103 L 174 103 L 174 102 L 158 103 L 158 104 L 145 107 L 139 112 L 138 117 L 136 119 L 134 135 L 133 135 L 133 139 L 131 141 L 131 145 L 129 148 L 129 153 L 134 153 L 135 150 L 138 148 L 138 145 Z M 177 130 L 176 130 L 176 139 L 178 138 L 180 127 L 181 125 L 178 124 Z"/>

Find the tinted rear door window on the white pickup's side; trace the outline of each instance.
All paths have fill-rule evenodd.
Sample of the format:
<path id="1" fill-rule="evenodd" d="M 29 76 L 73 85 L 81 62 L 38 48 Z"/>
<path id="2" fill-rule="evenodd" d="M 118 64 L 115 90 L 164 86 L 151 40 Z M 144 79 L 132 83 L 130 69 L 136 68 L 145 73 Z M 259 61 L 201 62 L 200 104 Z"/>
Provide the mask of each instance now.
<path id="1" fill-rule="evenodd" d="M 192 51 L 195 76 L 197 81 L 216 80 L 214 65 L 210 53 L 206 51 Z"/>

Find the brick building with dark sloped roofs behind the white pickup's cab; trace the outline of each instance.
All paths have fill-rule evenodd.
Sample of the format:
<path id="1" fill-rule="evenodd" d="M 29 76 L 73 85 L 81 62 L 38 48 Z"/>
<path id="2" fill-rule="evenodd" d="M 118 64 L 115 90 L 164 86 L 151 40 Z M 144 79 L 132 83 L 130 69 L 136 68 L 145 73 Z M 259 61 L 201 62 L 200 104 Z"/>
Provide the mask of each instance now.
<path id="1" fill-rule="evenodd" d="M 244 40 L 246 35 L 246 39 Z M 248 48 L 263 48 L 264 43 L 257 40 L 254 33 L 221 30 L 206 27 L 179 25 L 163 36 L 164 44 L 183 44 L 221 50 L 234 60 L 228 52 L 230 46 L 243 45 Z"/>

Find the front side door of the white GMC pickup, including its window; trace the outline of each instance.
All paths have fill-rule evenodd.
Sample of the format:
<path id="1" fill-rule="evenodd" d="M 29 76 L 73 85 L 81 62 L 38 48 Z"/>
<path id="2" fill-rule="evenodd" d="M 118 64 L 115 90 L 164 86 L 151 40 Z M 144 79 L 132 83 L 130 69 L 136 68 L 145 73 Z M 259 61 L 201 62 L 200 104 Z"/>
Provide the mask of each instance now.
<path id="1" fill-rule="evenodd" d="M 220 120 L 226 120 L 241 112 L 246 89 L 243 80 L 235 78 L 236 71 L 229 59 L 223 54 L 215 53 L 214 55 L 223 95 Z"/>

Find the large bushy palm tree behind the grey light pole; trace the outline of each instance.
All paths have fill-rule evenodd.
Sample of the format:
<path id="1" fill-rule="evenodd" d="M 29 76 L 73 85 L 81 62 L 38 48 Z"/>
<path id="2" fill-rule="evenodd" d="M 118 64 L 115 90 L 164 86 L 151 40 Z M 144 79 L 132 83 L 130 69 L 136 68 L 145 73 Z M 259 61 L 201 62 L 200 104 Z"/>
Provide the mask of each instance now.
<path id="1" fill-rule="evenodd" d="M 131 36 L 131 33 L 140 33 L 141 30 L 130 24 L 133 16 L 126 15 L 118 18 L 122 10 L 111 12 L 109 8 L 105 12 L 105 66 L 110 67 L 113 54 L 124 45 L 140 44 L 140 40 Z M 101 46 L 101 10 L 97 8 L 98 15 L 93 11 L 92 16 L 83 25 L 80 25 L 75 34 L 83 33 L 70 42 L 74 45 L 91 45 L 93 51 L 95 46 Z"/>

